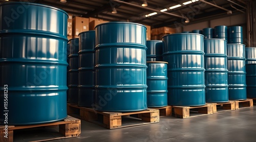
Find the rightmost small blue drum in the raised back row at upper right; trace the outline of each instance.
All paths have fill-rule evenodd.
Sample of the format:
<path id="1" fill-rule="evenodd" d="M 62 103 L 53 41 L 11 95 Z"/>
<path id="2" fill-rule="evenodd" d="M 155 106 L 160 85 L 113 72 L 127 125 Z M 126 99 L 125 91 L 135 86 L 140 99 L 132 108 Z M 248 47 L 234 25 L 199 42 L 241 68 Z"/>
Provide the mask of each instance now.
<path id="1" fill-rule="evenodd" d="M 231 26 L 228 27 L 228 43 L 243 44 L 243 27 Z"/>

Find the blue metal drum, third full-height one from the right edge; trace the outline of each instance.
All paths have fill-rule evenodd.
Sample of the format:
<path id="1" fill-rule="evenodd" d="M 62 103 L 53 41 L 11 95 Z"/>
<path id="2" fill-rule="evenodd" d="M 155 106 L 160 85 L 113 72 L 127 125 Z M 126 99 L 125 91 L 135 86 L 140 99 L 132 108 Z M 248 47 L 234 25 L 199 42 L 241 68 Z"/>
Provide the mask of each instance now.
<path id="1" fill-rule="evenodd" d="M 228 101 L 227 41 L 204 39 L 205 101 Z"/>

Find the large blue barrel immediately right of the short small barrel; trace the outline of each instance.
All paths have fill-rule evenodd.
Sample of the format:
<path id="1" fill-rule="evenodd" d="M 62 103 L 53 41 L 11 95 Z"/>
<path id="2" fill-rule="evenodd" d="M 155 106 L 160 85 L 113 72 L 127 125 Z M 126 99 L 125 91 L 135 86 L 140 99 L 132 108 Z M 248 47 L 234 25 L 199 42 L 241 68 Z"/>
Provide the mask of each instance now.
<path id="1" fill-rule="evenodd" d="M 164 36 L 163 61 L 168 62 L 168 105 L 205 104 L 203 35 L 179 33 Z"/>

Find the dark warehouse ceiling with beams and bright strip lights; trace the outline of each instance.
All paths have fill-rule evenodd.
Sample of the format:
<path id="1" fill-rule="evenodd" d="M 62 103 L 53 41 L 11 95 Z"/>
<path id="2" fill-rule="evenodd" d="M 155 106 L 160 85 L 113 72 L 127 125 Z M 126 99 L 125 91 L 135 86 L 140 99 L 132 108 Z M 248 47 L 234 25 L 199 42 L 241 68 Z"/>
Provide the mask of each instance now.
<path id="1" fill-rule="evenodd" d="M 65 0 L 61 0 L 65 1 Z M 146 0 L 147 7 L 142 7 L 145 0 L 28 0 L 65 10 L 73 16 L 95 17 L 108 21 L 129 21 L 151 25 L 152 27 L 174 26 L 199 22 L 216 16 L 231 13 L 245 13 L 249 0 Z M 1 3 L 8 3 L 1 0 Z M 20 0 L 9 0 L 20 2 Z M 113 13 L 116 9 L 117 13 Z"/>

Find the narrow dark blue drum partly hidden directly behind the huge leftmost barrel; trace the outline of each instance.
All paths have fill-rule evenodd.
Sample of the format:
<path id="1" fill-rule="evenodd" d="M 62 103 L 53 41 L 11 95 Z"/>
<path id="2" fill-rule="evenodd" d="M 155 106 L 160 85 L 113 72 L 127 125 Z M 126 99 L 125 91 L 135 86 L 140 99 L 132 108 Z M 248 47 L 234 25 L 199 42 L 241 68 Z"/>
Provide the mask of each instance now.
<path id="1" fill-rule="evenodd" d="M 78 103 L 78 48 L 79 38 L 69 40 L 68 102 Z"/>

